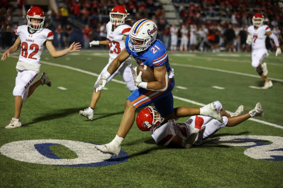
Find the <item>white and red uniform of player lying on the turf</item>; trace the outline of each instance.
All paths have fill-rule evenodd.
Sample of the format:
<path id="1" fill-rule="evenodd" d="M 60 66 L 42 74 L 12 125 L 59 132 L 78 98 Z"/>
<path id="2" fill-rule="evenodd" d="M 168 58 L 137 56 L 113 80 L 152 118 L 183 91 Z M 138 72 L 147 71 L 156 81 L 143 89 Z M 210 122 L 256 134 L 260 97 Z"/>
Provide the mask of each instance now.
<path id="1" fill-rule="evenodd" d="M 215 101 L 214 104 L 218 111 L 222 109 L 222 105 L 219 101 Z M 228 123 L 228 118 L 225 116 L 223 117 L 223 123 L 208 116 L 199 115 L 199 117 L 204 119 L 204 123 L 194 144 L 202 144 L 207 138 L 215 134 L 219 129 L 225 127 Z M 174 119 L 171 119 L 159 128 L 151 130 L 150 134 L 158 145 L 163 146 L 167 146 L 174 136 L 180 136 L 183 140 L 187 140 L 195 128 L 195 119 L 196 116 L 192 116 L 184 123 L 177 123 Z"/>

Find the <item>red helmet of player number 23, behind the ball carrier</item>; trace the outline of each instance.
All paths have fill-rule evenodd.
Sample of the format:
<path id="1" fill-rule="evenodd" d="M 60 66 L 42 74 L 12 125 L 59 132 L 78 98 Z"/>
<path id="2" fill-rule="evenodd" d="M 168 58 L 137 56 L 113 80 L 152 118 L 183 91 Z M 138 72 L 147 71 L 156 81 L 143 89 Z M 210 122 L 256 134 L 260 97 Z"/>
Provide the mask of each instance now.
<path id="1" fill-rule="evenodd" d="M 127 15 L 128 15 L 127 10 L 123 6 L 121 6 L 121 5 L 115 6 L 111 10 L 111 12 L 109 13 L 110 21 L 115 26 L 124 24 Z"/>

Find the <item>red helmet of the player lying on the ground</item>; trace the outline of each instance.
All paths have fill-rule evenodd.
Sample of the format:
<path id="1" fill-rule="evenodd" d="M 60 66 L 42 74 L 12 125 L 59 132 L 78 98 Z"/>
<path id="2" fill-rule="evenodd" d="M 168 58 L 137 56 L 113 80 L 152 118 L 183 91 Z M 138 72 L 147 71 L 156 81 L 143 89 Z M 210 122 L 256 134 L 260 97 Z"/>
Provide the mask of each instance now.
<path id="1" fill-rule="evenodd" d="M 140 130 L 149 131 L 158 128 L 163 121 L 164 118 L 160 116 L 155 107 L 149 106 L 138 113 L 136 124 Z"/>

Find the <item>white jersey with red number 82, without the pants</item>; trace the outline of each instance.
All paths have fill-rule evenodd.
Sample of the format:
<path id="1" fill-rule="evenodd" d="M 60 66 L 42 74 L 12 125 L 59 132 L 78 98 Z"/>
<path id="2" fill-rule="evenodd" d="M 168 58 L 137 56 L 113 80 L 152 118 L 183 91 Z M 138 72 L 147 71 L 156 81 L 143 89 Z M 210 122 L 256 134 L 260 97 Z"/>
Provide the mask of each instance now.
<path id="1" fill-rule="evenodd" d="M 54 35 L 49 29 L 39 29 L 33 34 L 28 32 L 28 26 L 18 26 L 16 35 L 21 39 L 21 53 L 19 60 L 30 64 L 40 64 L 40 55 L 44 50 L 46 40 L 52 40 Z"/>

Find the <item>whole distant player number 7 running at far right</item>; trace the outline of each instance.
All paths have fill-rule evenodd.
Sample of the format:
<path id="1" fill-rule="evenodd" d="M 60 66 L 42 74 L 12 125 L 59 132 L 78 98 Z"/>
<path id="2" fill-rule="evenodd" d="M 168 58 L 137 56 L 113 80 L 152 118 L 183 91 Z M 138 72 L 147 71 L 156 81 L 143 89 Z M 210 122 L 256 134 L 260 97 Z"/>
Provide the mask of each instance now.
<path id="1" fill-rule="evenodd" d="M 262 89 L 268 89 L 273 86 L 272 81 L 269 80 L 266 75 L 268 73 L 266 63 L 261 63 L 263 58 L 269 56 L 265 47 L 266 36 L 273 39 L 276 45 L 275 55 L 281 54 L 278 38 L 271 33 L 268 25 L 264 25 L 264 17 L 262 14 L 255 14 L 252 18 L 253 25 L 248 27 L 248 36 L 246 43 L 252 44 L 252 66 L 256 69 L 256 72 L 264 79 L 265 83 Z"/>

